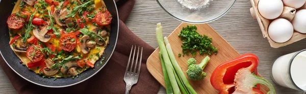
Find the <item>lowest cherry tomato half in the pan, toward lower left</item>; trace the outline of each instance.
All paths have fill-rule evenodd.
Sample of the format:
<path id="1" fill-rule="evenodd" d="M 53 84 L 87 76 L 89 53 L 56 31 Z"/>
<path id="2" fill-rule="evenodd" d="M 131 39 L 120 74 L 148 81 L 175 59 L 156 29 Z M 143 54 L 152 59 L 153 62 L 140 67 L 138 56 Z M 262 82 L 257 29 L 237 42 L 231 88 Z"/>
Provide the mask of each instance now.
<path id="1" fill-rule="evenodd" d="M 35 45 L 36 48 L 40 48 L 41 46 Z M 27 54 L 25 54 L 32 62 L 38 62 L 43 58 L 43 54 L 41 53 L 40 50 L 34 48 L 34 46 L 30 46 L 27 50 Z"/>

